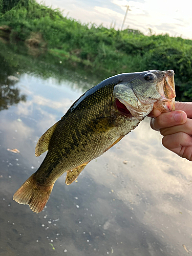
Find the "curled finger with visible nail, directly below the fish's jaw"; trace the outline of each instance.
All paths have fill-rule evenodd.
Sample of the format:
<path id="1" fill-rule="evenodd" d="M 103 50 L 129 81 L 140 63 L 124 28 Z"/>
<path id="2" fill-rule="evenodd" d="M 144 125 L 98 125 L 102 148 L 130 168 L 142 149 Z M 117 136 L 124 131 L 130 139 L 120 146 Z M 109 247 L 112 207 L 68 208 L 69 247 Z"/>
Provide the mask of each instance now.
<path id="1" fill-rule="evenodd" d="M 183 111 L 172 111 L 167 113 L 162 113 L 156 118 L 152 118 L 150 125 L 153 130 L 159 131 L 160 129 L 166 127 L 172 127 L 174 125 L 179 125 L 185 123 L 187 120 L 187 115 Z"/>

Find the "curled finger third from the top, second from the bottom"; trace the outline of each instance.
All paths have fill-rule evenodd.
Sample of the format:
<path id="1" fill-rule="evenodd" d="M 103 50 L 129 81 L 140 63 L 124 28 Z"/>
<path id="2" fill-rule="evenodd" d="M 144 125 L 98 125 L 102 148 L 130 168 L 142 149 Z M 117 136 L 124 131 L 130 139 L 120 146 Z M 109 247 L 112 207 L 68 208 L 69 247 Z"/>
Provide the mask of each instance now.
<path id="1" fill-rule="evenodd" d="M 192 146 L 192 138 L 186 133 L 175 133 L 164 136 L 162 144 L 168 150 L 179 154 L 182 146 Z"/>

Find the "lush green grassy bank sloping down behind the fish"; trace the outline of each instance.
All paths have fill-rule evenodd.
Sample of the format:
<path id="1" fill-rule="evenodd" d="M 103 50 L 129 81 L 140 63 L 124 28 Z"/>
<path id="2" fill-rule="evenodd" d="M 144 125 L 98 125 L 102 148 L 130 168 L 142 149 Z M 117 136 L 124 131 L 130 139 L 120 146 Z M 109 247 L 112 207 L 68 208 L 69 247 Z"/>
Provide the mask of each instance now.
<path id="1" fill-rule="evenodd" d="M 116 31 L 63 17 L 34 0 L 15 4 L 0 0 L 0 26 L 8 26 L 12 41 L 22 40 L 46 48 L 61 61 L 81 63 L 93 73 L 173 69 L 177 93 L 192 99 L 192 41 L 165 35 L 145 36 L 138 30 Z"/>

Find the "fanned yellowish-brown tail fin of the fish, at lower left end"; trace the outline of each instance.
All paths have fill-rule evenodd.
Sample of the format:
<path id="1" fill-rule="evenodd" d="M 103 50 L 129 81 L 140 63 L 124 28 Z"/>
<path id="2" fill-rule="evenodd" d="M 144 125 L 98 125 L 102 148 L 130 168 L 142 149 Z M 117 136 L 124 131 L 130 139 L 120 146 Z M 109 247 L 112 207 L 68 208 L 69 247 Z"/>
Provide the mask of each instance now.
<path id="1" fill-rule="evenodd" d="M 49 200 L 53 185 L 54 183 L 51 186 L 41 186 L 37 184 L 33 174 L 15 192 L 13 200 L 19 204 L 29 204 L 32 211 L 38 214 Z"/>

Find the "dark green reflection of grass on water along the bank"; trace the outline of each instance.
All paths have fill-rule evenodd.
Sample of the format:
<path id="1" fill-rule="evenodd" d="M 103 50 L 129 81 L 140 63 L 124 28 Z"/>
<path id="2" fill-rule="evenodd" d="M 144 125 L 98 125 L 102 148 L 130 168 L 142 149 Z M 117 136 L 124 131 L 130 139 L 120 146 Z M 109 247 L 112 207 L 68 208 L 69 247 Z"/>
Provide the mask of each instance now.
<path id="1" fill-rule="evenodd" d="M 31 54 L 31 55 L 29 55 Z M 0 82 L 6 83 L 7 76 L 33 73 L 41 78 L 55 78 L 57 83 L 63 80 L 72 81 L 71 86 L 88 90 L 111 74 L 92 74 L 83 68 L 83 63 L 75 62 L 75 58 L 58 57 L 47 51 L 31 49 L 24 44 L 3 44 L 0 42 Z M 17 75 L 18 76 L 18 75 Z"/>

